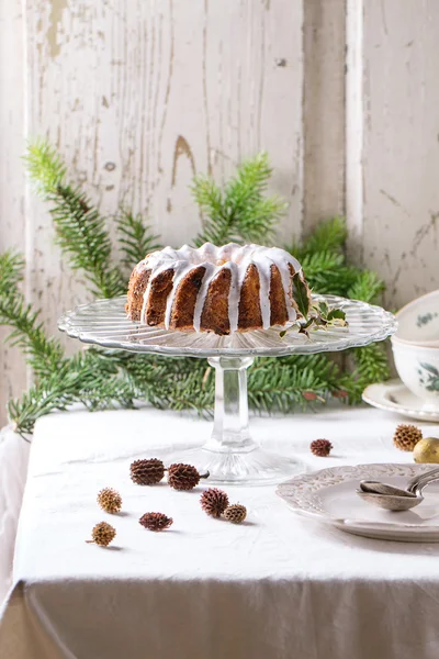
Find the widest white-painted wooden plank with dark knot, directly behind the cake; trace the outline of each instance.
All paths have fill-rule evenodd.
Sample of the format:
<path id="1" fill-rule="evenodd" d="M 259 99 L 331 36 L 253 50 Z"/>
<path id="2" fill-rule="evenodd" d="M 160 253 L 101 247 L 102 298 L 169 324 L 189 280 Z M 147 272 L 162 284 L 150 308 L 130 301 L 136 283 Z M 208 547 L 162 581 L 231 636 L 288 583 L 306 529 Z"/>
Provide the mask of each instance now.
<path id="1" fill-rule="evenodd" d="M 302 2 L 33 0 L 26 5 L 29 131 L 47 135 L 101 209 L 147 214 L 165 242 L 193 238 L 188 185 L 266 148 L 273 189 L 302 214 Z M 50 332 L 87 293 L 32 202 L 31 279 Z M 109 222 L 109 224 L 111 224 Z"/>

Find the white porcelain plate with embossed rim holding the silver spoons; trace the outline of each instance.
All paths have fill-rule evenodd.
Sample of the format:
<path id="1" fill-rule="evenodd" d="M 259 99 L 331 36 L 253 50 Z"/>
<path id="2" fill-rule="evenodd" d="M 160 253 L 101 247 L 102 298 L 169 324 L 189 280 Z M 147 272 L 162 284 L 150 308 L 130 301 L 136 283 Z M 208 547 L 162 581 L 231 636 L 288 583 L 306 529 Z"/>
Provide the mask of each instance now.
<path id="1" fill-rule="evenodd" d="M 424 501 L 405 512 L 390 512 L 356 494 L 362 479 L 405 487 L 432 465 L 357 465 L 302 473 L 278 485 L 278 494 L 295 512 L 354 535 L 383 540 L 439 543 L 439 482 L 424 491 Z"/>

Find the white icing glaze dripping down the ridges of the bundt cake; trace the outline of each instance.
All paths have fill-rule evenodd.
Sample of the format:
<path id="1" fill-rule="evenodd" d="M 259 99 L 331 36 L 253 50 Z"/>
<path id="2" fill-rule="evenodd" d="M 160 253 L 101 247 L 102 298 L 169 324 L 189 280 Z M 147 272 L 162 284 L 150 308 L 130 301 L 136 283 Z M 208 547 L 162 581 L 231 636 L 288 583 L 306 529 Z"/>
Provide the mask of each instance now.
<path id="1" fill-rule="evenodd" d="M 151 270 L 148 286 L 144 293 L 144 303 L 142 308 L 140 322 L 146 323 L 147 305 L 151 284 L 156 277 L 161 272 L 172 269 L 172 290 L 168 295 L 165 314 L 165 326 L 169 330 L 172 314 L 172 305 L 179 283 L 182 279 L 199 266 L 205 268 L 202 283 L 196 297 L 196 303 L 193 315 L 193 327 L 200 332 L 201 316 L 204 309 L 204 302 L 211 282 L 224 269 L 232 272 L 230 289 L 228 293 L 228 320 L 230 333 L 238 328 L 238 311 L 240 289 L 250 265 L 258 269 L 260 281 L 260 309 L 262 315 L 262 326 L 264 330 L 270 327 L 270 281 L 271 266 L 278 267 L 281 275 L 283 291 L 285 293 L 285 305 L 289 320 L 296 319 L 293 300 L 291 299 L 291 273 L 289 265 L 294 272 L 301 272 L 302 267 L 296 258 L 291 256 L 284 249 L 278 247 L 262 247 L 261 245 L 237 245 L 228 243 L 223 247 L 215 247 L 211 243 L 204 243 L 198 249 L 183 245 L 180 249 L 165 247 L 160 252 L 149 254 L 143 261 L 137 264 L 136 271 L 142 272 Z"/>

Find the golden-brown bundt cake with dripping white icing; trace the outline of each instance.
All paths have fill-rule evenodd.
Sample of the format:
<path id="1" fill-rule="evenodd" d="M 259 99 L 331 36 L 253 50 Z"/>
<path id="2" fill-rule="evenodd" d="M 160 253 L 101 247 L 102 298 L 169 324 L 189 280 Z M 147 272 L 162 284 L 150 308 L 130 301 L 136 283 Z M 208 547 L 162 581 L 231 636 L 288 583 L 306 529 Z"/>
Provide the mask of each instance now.
<path id="1" fill-rule="evenodd" d="M 134 268 L 126 311 L 133 321 L 183 332 L 268 328 L 300 317 L 297 283 L 308 297 L 300 263 L 277 247 L 165 247 Z"/>

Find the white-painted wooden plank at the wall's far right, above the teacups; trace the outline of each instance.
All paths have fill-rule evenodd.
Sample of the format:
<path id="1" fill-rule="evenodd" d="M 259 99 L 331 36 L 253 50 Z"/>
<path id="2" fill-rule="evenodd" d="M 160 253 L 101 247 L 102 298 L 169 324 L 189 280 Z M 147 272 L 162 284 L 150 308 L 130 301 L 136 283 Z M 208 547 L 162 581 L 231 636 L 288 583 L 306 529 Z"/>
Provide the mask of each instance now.
<path id="1" fill-rule="evenodd" d="M 362 14 L 359 238 L 398 308 L 439 286 L 439 4 L 370 0 Z"/>

